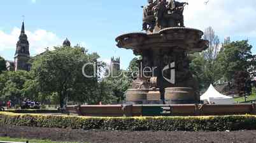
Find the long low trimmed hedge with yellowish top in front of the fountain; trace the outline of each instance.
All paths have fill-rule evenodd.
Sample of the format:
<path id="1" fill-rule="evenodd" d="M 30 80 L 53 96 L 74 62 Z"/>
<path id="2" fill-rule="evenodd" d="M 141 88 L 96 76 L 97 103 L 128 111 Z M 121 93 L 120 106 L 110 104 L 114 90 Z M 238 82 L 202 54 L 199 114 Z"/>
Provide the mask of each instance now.
<path id="1" fill-rule="evenodd" d="M 22 115 L 0 113 L 5 125 L 85 130 L 164 130 L 164 131 L 225 131 L 256 130 L 256 116 L 192 116 L 192 117 L 122 117 L 94 118 L 81 116 Z"/>

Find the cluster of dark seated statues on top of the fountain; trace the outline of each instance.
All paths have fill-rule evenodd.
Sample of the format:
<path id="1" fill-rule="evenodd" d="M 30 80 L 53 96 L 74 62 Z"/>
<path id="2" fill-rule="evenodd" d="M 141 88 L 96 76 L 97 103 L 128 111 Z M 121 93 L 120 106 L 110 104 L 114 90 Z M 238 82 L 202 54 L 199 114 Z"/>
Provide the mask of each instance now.
<path id="1" fill-rule="evenodd" d="M 184 27 L 183 11 L 187 4 L 175 0 L 148 0 L 148 5 L 143 7 L 143 30 Z"/>

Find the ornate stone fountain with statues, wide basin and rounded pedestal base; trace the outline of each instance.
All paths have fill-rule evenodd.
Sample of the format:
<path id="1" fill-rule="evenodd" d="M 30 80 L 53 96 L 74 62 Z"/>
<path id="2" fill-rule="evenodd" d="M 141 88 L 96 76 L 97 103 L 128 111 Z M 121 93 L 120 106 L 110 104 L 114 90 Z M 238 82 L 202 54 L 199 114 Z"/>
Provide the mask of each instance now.
<path id="1" fill-rule="evenodd" d="M 141 72 L 127 91 L 132 104 L 195 104 L 198 84 L 189 70 L 188 54 L 201 52 L 208 40 L 203 32 L 185 28 L 183 9 L 188 3 L 148 0 L 143 8 L 145 32 L 117 37 L 117 46 L 142 56 Z"/>

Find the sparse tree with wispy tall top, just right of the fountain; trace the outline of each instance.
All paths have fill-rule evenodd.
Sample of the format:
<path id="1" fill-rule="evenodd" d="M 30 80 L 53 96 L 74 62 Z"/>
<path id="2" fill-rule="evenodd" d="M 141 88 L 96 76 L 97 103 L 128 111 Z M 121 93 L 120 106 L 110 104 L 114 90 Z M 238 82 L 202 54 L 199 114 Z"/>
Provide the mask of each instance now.
<path id="1" fill-rule="evenodd" d="M 207 89 L 221 78 L 218 67 L 218 54 L 220 51 L 220 40 L 213 28 L 208 27 L 204 31 L 204 39 L 209 41 L 209 47 L 202 53 L 190 55 L 190 71 L 199 81 L 199 90 Z M 226 42 L 227 43 L 227 42 Z"/>

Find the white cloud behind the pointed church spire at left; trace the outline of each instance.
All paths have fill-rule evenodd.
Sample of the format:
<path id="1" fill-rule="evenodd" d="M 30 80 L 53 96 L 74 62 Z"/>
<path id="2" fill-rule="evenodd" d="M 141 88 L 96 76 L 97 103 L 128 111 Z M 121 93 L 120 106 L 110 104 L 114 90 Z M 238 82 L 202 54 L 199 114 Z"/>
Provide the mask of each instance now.
<path id="1" fill-rule="evenodd" d="M 53 32 L 42 29 L 35 30 L 34 32 L 25 31 L 25 34 L 27 34 L 29 40 L 29 49 L 32 56 L 45 51 L 46 47 L 52 49 L 53 46 L 59 46 L 63 42 L 63 39 L 60 39 L 60 37 Z M 13 50 L 14 53 L 19 35 L 20 28 L 17 27 L 13 28 L 10 34 L 0 30 L 0 51 Z"/>

